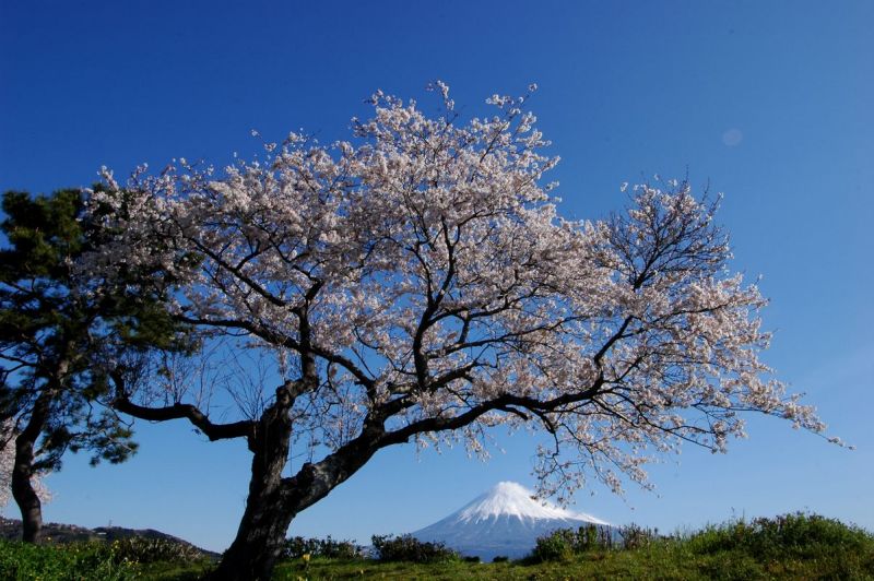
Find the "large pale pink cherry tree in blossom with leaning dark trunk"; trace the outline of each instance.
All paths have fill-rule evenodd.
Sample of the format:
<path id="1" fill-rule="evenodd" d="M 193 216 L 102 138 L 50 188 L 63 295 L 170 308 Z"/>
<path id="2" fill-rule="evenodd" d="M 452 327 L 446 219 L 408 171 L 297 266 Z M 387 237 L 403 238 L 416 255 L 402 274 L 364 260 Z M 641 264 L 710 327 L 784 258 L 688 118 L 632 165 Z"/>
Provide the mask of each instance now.
<path id="1" fill-rule="evenodd" d="M 232 422 L 178 386 L 155 405 L 116 381 L 117 410 L 247 441 L 248 501 L 216 578 L 269 578 L 294 517 L 389 446 L 476 451 L 494 426 L 540 427 L 551 494 L 646 484 L 642 465 L 683 442 L 724 451 L 742 412 L 824 428 L 759 360 L 766 301 L 728 270 L 714 203 L 641 185 L 610 220 L 566 220 L 528 95 L 463 122 L 433 88 L 435 116 L 377 93 L 350 141 L 292 133 L 260 161 L 180 159 L 123 186 L 105 170 L 92 197 L 116 234 L 86 274 L 169 273 L 180 321 L 276 357 L 275 392 Z M 323 454 L 283 476 L 292 449 Z"/>

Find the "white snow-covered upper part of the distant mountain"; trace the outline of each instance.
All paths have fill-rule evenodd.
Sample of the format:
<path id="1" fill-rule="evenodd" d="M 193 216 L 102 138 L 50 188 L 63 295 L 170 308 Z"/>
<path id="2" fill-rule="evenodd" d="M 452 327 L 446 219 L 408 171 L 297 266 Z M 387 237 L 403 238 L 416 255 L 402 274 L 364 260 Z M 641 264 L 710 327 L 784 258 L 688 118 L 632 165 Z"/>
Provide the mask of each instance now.
<path id="1" fill-rule="evenodd" d="M 571 512 L 551 502 L 535 500 L 531 490 L 515 482 L 498 483 L 458 512 L 458 520 L 463 522 L 480 522 L 498 517 L 571 519 L 606 524 L 588 514 Z"/>

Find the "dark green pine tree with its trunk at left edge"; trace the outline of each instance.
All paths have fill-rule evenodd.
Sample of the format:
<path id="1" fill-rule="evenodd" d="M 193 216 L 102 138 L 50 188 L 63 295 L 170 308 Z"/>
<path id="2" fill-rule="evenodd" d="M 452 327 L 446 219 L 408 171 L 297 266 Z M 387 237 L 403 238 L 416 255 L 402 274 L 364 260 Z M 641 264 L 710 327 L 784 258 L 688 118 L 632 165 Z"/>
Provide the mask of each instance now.
<path id="1" fill-rule="evenodd" d="M 92 463 L 122 462 L 137 450 L 130 426 L 109 407 L 117 363 L 153 349 L 180 349 L 179 329 L 147 285 L 116 285 L 76 272 L 99 244 L 80 190 L 3 195 L 0 247 L 0 419 L 15 426 L 13 496 L 25 541 L 38 541 L 42 509 L 29 481 L 57 471 L 69 451 Z M 133 277 L 142 273 L 127 273 Z M 135 366 L 134 366 L 135 367 Z M 29 521 L 29 529 L 28 529 Z"/>

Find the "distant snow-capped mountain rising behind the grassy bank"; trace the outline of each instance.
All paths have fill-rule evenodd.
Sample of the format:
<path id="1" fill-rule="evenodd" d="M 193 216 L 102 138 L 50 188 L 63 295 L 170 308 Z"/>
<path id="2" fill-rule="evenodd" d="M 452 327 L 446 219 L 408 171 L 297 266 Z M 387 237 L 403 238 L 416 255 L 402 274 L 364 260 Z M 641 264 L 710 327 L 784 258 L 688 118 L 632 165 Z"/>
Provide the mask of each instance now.
<path id="1" fill-rule="evenodd" d="M 607 525 L 590 514 L 571 512 L 532 496 L 520 484 L 498 483 L 457 512 L 412 535 L 424 542 L 445 543 L 462 555 L 483 560 L 498 555 L 517 559 L 531 553 L 538 537 L 556 529 Z"/>

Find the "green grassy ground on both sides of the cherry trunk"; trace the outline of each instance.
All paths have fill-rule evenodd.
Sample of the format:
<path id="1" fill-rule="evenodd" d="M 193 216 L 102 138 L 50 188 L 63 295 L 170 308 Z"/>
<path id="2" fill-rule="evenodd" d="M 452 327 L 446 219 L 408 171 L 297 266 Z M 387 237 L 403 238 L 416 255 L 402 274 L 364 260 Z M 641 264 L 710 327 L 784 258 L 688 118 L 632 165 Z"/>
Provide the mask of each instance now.
<path id="1" fill-rule="evenodd" d="M 32 547 L 0 542 L 0 579 L 193 580 L 205 561 L 151 560 L 122 556 L 111 545 Z M 127 560 L 126 560 L 127 559 Z M 497 564 L 459 559 L 432 564 L 336 560 L 286 561 L 277 580 L 563 580 L 563 579 L 871 579 L 874 535 L 838 521 L 789 514 L 733 521 L 673 537 L 649 538 L 634 548 L 595 547 L 558 560 Z"/>

